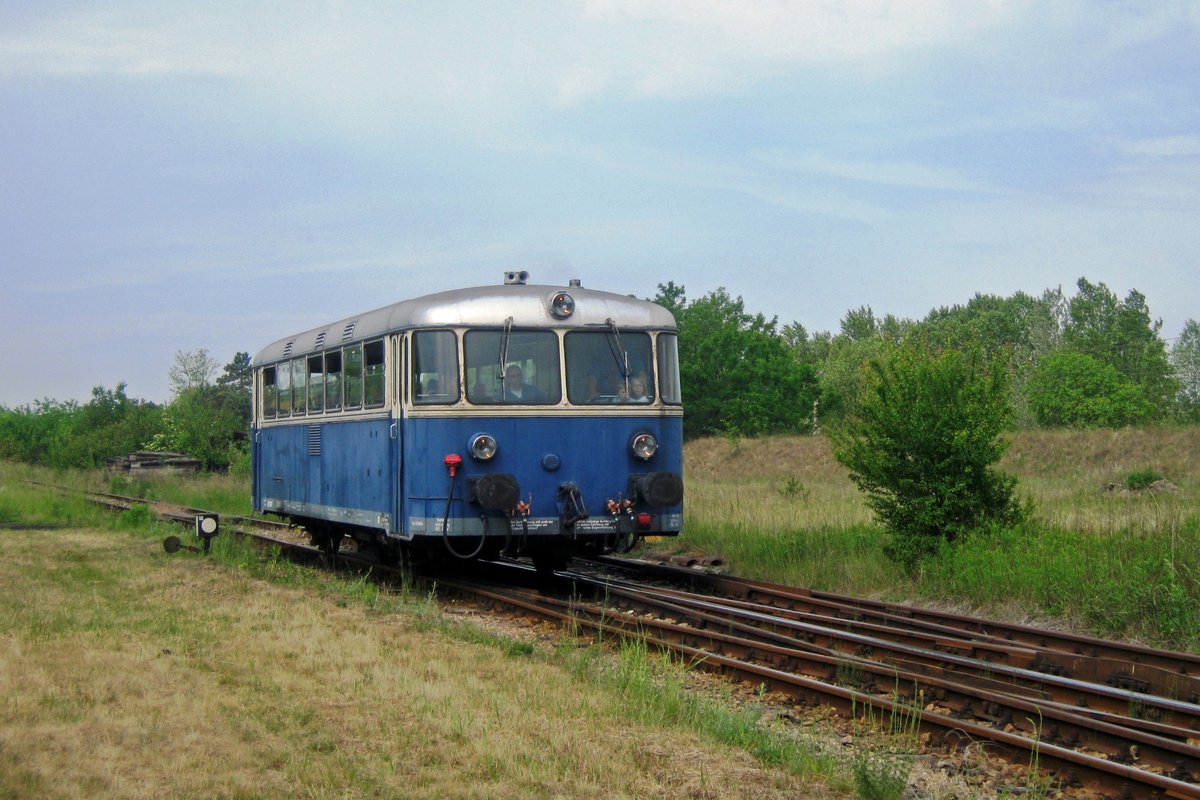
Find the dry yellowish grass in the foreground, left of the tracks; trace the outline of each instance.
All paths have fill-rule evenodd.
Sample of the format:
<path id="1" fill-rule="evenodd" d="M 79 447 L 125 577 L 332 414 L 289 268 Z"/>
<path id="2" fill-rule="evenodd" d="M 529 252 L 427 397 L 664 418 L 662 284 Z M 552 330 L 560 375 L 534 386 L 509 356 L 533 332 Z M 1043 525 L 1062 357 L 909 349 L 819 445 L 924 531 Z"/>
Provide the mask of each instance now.
<path id="1" fill-rule="evenodd" d="M 2 798 L 796 798 L 536 656 L 156 540 L 0 531 Z"/>

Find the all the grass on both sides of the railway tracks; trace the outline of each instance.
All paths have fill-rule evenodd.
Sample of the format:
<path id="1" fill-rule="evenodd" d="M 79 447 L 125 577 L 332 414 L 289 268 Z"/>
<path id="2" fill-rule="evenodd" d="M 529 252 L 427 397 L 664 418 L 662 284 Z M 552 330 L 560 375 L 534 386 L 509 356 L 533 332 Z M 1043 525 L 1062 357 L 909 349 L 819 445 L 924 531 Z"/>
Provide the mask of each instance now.
<path id="1" fill-rule="evenodd" d="M 1198 650 L 1198 451 L 1200 428 L 1019 434 L 1002 465 L 1034 501 L 1031 525 L 910 576 L 882 555 L 827 440 L 696 441 L 685 534 L 655 546 L 739 575 Z M 1126 491 L 1150 474 L 1178 493 Z M 383 593 L 227 536 L 209 559 L 167 557 L 158 542 L 176 531 L 144 509 L 114 521 L 30 479 L 248 512 L 233 479 L 0 465 L 0 798 L 865 798 L 907 780 L 907 739 L 833 766 L 754 706 L 688 691 L 684 666 L 636 643 L 616 663 L 565 644 L 547 657 L 448 621 L 410 587 Z M 49 529 L 17 528 L 36 525 Z"/>

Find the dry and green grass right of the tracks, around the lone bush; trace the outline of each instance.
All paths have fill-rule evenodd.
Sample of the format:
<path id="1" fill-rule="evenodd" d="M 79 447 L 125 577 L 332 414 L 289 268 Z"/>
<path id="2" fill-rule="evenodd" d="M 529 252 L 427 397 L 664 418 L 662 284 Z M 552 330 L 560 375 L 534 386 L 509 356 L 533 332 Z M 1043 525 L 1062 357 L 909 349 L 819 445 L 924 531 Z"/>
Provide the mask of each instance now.
<path id="1" fill-rule="evenodd" d="M 1102 636 L 1200 651 L 1200 428 L 1018 433 L 1001 468 L 1034 505 L 1020 530 L 946 548 L 917 575 L 824 438 L 688 444 L 674 547 L 737 575 L 826 591 L 936 601 L 1008 619 L 1056 618 Z M 1177 493 L 1124 491 L 1164 476 Z M 1094 599 L 1103 602 L 1093 602 Z"/>

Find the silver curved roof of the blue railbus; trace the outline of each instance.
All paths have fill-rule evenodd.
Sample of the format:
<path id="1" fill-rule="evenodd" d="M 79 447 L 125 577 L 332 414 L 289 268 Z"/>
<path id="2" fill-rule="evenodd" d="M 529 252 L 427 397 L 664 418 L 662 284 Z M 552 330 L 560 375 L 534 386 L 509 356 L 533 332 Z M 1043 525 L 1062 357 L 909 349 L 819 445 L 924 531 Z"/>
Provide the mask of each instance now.
<path id="1" fill-rule="evenodd" d="M 551 300 L 559 291 L 575 300 L 575 312 L 568 319 L 550 313 Z M 401 300 L 284 337 L 259 350 L 254 363 L 270 363 L 412 327 L 499 326 L 509 317 L 514 327 L 605 326 L 610 319 L 619 327 L 673 330 L 676 326 L 674 317 L 662 306 L 611 291 L 578 285 L 472 287 Z"/>

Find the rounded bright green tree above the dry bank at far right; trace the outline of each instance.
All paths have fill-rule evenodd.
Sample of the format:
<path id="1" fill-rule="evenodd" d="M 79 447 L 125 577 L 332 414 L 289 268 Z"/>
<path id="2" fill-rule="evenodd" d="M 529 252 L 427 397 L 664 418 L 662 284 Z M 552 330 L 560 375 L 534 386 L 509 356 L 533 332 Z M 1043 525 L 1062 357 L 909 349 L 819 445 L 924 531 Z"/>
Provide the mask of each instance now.
<path id="1" fill-rule="evenodd" d="M 1026 391 L 1034 417 L 1046 426 L 1117 428 L 1144 421 L 1152 410 L 1141 387 L 1116 367 L 1074 350 L 1043 359 Z"/>

